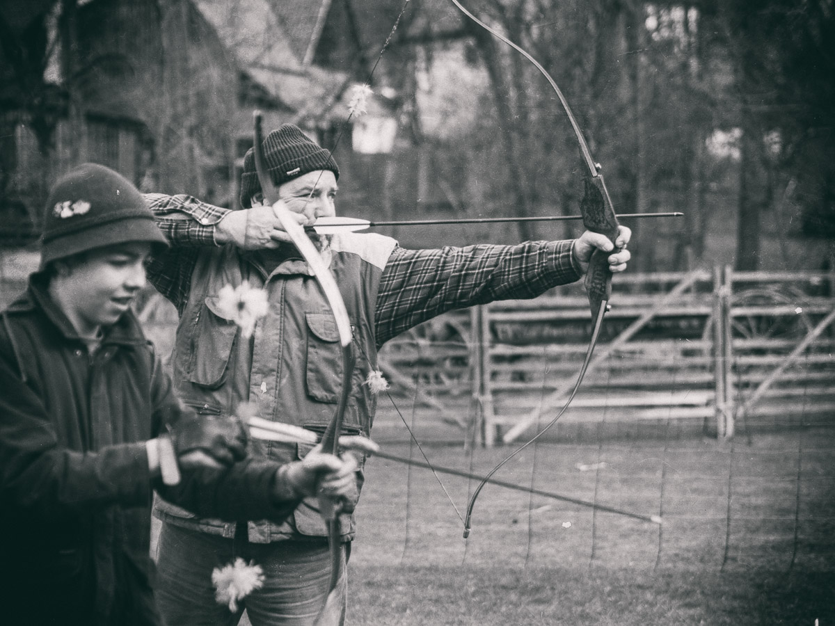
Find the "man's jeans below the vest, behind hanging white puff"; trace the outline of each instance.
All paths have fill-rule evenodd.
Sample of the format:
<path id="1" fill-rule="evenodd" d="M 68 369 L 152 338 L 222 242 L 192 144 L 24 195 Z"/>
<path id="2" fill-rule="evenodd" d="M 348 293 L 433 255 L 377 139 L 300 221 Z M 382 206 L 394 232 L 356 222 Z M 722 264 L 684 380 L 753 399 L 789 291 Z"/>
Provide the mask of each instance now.
<path id="1" fill-rule="evenodd" d="M 244 523 L 238 524 L 245 528 Z M 347 607 L 347 555 L 342 551 L 341 618 Z M 264 570 L 264 586 L 231 613 L 215 601 L 212 569 L 236 557 Z M 249 543 L 222 538 L 164 522 L 157 547 L 157 602 L 170 626 L 235 626 L 246 609 L 252 626 L 311 626 L 325 603 L 331 576 L 326 541 Z M 338 605 L 337 605 L 338 606 Z"/>

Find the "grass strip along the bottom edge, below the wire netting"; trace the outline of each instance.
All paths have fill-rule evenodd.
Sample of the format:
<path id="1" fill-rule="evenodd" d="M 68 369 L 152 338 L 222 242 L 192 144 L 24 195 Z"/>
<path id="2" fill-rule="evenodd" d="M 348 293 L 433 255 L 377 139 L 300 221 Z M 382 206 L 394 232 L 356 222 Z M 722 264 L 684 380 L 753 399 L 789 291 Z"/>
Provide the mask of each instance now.
<path id="1" fill-rule="evenodd" d="M 833 573 L 362 565 L 349 584 L 349 626 L 835 623 Z"/>

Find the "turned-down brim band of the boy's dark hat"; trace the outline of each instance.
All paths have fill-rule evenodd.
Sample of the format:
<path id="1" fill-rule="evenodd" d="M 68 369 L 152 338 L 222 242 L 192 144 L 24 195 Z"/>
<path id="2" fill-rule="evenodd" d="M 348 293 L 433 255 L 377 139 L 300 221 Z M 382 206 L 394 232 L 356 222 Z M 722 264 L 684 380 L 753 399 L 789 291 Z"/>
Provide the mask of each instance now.
<path id="1" fill-rule="evenodd" d="M 41 246 L 41 269 L 53 260 L 63 259 L 110 245 L 145 241 L 152 245 L 152 253 L 159 254 L 168 248 L 168 240 L 148 218 L 116 220 L 102 225 L 85 228 L 71 235 L 43 243 Z"/>

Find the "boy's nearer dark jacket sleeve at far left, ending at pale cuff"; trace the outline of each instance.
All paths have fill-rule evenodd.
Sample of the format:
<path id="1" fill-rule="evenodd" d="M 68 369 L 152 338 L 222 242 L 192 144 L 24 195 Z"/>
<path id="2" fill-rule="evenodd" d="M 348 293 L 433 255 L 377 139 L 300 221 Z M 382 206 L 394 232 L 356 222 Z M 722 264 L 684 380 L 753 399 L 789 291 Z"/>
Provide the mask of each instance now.
<path id="1" fill-rule="evenodd" d="M 60 447 L 46 407 L 0 350 L 0 508 L 60 517 L 150 497 L 144 442 L 97 452 Z"/>

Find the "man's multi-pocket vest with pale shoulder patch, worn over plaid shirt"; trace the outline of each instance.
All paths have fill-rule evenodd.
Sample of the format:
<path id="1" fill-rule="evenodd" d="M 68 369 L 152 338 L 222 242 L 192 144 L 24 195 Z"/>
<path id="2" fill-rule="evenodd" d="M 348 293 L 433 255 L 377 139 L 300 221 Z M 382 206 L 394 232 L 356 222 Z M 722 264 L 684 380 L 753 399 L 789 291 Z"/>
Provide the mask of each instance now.
<path id="1" fill-rule="evenodd" d="M 396 242 L 382 235 L 335 235 L 331 271 L 351 319 L 357 366 L 343 434 L 369 435 L 376 397 L 363 384 L 377 369 L 374 311 L 382 269 Z M 264 288 L 270 303 L 249 339 L 226 319 L 218 305 L 224 285 L 242 281 Z M 285 260 L 267 274 L 257 255 L 232 246 L 200 255 L 191 278 L 189 300 L 180 314 L 172 355 L 175 389 L 202 414 L 234 415 L 241 402 L 257 415 L 324 432 L 340 393 L 342 356 L 337 327 L 319 284 L 301 256 Z M 303 458 L 310 447 L 253 439 L 250 454 L 278 462 Z M 362 488 L 362 462 L 359 486 Z M 195 517 L 157 498 L 154 513 L 169 523 L 224 537 L 235 536 L 235 522 Z M 246 520 L 254 543 L 288 538 L 326 537 L 315 498 L 306 499 L 285 522 Z M 353 538 L 352 515 L 340 518 L 344 540 Z"/>

